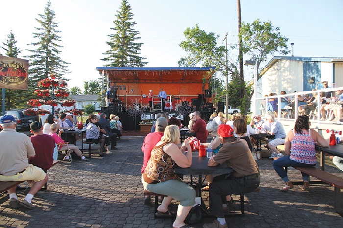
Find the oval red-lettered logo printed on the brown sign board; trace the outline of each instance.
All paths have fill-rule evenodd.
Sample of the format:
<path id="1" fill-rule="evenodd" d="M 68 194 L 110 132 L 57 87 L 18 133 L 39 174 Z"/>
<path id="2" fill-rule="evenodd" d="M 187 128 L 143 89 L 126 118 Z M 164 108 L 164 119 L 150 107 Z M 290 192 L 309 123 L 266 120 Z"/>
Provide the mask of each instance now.
<path id="1" fill-rule="evenodd" d="M 0 61 L 0 82 L 7 85 L 19 85 L 27 80 L 27 69 L 20 63 Z"/>

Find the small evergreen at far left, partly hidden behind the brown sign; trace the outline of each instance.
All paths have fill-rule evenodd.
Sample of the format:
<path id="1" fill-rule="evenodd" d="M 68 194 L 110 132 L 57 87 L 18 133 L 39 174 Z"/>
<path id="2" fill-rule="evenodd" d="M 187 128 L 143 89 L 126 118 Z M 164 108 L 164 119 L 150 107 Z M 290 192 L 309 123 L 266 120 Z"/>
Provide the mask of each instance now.
<path id="1" fill-rule="evenodd" d="M 21 50 L 16 46 L 16 37 L 12 31 L 7 35 L 7 42 L 2 42 L 2 44 L 4 46 L 2 46 L 1 49 L 6 51 L 6 56 L 18 58 L 18 54 Z M 2 90 L 0 90 L 0 96 L 2 98 Z M 9 110 L 26 107 L 26 97 L 27 91 L 25 90 L 5 89 L 5 109 Z"/>

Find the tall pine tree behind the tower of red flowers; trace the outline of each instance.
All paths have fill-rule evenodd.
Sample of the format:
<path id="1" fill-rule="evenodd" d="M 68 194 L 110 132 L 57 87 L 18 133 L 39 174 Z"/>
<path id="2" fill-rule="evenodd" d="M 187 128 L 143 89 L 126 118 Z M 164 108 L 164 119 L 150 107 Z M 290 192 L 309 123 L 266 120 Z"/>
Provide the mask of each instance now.
<path id="1" fill-rule="evenodd" d="M 63 46 L 57 44 L 57 42 L 61 41 L 61 37 L 57 35 L 60 31 L 56 30 L 58 23 L 53 21 L 55 12 L 50 7 L 51 2 L 48 0 L 44 8 L 44 14 L 38 14 L 40 19 L 36 18 L 41 27 L 36 27 L 37 32 L 33 33 L 33 37 L 37 38 L 38 41 L 29 44 L 37 47 L 37 49 L 28 50 L 32 52 L 32 55 L 26 56 L 30 58 L 29 90 L 35 90 L 37 82 L 48 78 L 48 74 L 53 74 L 56 79 L 68 81 L 63 75 L 69 73 L 67 70 L 69 63 L 63 61 L 60 57 L 61 51 L 58 48 Z"/>

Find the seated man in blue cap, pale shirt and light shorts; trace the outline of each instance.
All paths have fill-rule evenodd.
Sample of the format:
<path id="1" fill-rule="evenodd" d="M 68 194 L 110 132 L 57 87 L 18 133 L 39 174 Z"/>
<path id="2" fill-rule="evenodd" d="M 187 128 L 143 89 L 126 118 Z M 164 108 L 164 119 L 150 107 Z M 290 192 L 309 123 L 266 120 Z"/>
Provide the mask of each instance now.
<path id="1" fill-rule="evenodd" d="M 11 115 L 4 115 L 0 119 L 0 181 L 34 181 L 26 197 L 19 201 L 16 187 L 7 190 L 9 205 L 12 208 L 24 206 L 33 209 L 32 198 L 48 181 L 48 174 L 41 168 L 28 164 L 27 158 L 35 156 L 30 138 L 23 133 L 16 132 L 16 120 Z"/>

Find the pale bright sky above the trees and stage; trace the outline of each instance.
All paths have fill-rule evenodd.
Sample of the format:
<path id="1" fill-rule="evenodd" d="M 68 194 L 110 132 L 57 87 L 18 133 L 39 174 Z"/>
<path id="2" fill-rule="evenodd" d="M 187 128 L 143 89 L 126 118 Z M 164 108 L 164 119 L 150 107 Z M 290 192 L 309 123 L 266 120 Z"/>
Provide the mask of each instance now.
<path id="1" fill-rule="evenodd" d="M 99 78 L 96 67 L 107 64 L 100 59 L 109 46 L 109 34 L 122 0 L 51 0 L 54 22 L 60 31 L 63 46 L 61 58 L 69 62 L 68 88 Z M 177 67 L 186 56 L 179 44 L 185 40 L 183 32 L 197 23 L 201 30 L 219 35 L 219 45 L 228 33 L 228 43 L 237 44 L 237 0 L 128 0 L 131 5 L 133 27 L 141 37 L 145 67 Z M 27 44 L 37 41 L 33 32 L 40 27 L 35 19 L 44 13 L 47 0 L 0 0 L 0 46 L 12 32 L 19 58 L 29 55 Z M 241 0 L 242 22 L 256 19 L 270 20 L 294 43 L 294 56 L 343 57 L 343 1 L 342 0 Z M 341 25 L 340 25 L 341 24 Z M 0 53 L 4 51 L 0 49 Z M 275 54 L 279 56 L 280 54 Z M 245 57 L 244 57 L 245 58 Z M 272 56 L 270 56 L 270 59 Z M 267 62 L 266 62 L 267 64 Z M 252 75 L 251 75 L 252 76 Z M 249 78 L 245 75 L 245 78 Z"/>

